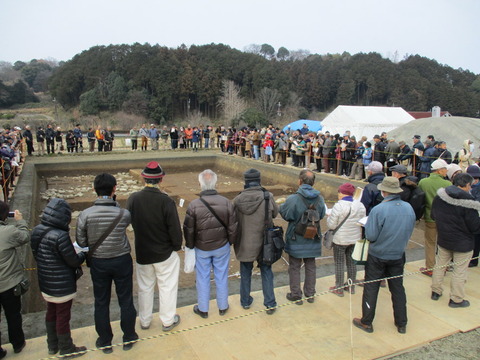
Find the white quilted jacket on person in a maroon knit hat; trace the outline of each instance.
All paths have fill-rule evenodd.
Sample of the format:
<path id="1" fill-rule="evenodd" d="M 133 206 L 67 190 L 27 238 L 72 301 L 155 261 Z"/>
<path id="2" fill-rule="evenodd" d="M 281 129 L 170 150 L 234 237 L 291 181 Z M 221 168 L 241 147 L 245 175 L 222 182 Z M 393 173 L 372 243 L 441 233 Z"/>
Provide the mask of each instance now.
<path id="1" fill-rule="evenodd" d="M 333 206 L 332 213 L 327 218 L 328 228 L 335 230 L 347 216 L 348 219 L 333 236 L 334 244 L 352 245 L 362 237 L 362 227 L 357 222 L 366 216 L 365 206 L 360 201 L 354 201 L 351 196 L 344 197 Z"/>

